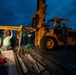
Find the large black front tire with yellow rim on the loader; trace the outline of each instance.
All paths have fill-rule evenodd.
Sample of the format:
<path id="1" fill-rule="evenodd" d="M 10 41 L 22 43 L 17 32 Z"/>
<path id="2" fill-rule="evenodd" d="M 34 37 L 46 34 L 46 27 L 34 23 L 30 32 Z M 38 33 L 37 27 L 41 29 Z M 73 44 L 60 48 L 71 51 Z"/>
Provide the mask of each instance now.
<path id="1" fill-rule="evenodd" d="M 52 36 L 45 36 L 40 41 L 40 46 L 45 51 L 50 51 L 55 48 L 57 41 Z"/>

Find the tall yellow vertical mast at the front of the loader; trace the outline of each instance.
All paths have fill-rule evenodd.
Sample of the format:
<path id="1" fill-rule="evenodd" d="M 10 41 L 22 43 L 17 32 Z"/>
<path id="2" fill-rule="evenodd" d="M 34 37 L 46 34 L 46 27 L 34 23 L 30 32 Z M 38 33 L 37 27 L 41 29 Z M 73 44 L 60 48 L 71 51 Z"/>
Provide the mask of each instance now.
<path id="1" fill-rule="evenodd" d="M 35 32 L 35 46 L 40 45 L 40 40 L 43 37 L 45 30 L 45 15 L 46 15 L 46 0 L 37 0 L 37 12 L 33 16 L 32 27 L 36 28 Z"/>

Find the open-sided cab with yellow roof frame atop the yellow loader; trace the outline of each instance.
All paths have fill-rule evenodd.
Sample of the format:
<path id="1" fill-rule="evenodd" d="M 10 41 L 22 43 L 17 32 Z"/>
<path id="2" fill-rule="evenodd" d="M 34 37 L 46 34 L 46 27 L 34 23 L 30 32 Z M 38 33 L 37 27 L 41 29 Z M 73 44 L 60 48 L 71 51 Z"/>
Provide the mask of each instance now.
<path id="1" fill-rule="evenodd" d="M 50 25 L 50 29 L 54 30 L 55 34 L 61 34 L 60 27 L 62 24 L 65 24 L 68 29 L 68 19 L 67 18 L 54 18 L 48 21 L 48 25 Z"/>

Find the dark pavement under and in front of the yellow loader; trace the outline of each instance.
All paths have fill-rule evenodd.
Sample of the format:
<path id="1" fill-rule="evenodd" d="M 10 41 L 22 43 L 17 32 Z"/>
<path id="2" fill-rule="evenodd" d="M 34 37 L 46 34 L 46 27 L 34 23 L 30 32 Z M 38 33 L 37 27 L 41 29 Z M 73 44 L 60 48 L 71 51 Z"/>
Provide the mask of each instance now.
<path id="1" fill-rule="evenodd" d="M 69 69 L 76 73 L 76 50 L 70 48 L 70 50 L 59 49 L 50 52 L 41 52 L 40 50 L 35 50 L 41 56 L 46 57 L 49 60 L 56 62 L 57 64 Z"/>

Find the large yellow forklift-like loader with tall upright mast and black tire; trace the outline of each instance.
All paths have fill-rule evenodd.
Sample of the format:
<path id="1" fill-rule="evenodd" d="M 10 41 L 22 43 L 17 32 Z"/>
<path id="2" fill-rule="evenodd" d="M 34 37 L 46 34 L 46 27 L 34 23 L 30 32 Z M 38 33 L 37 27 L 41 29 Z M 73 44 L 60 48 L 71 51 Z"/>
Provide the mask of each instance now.
<path id="1" fill-rule="evenodd" d="M 64 45 L 61 37 L 61 31 L 56 31 L 54 26 L 57 23 L 65 22 L 65 25 L 68 29 L 68 19 L 67 18 L 54 18 L 48 22 L 53 22 L 52 26 L 49 29 L 49 25 L 45 24 L 45 15 L 46 15 L 46 0 L 37 0 L 37 12 L 32 18 L 32 27 L 36 29 L 35 31 L 35 46 L 42 48 L 43 50 L 49 51 L 55 48 L 56 46 Z M 68 45 L 74 45 L 76 43 L 76 31 L 68 30 L 67 31 L 67 42 Z M 71 35 L 70 35 L 71 34 Z M 73 35 L 72 35 L 73 34 Z M 73 41 L 74 38 L 74 41 Z"/>

